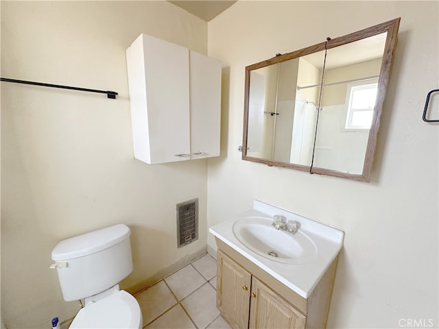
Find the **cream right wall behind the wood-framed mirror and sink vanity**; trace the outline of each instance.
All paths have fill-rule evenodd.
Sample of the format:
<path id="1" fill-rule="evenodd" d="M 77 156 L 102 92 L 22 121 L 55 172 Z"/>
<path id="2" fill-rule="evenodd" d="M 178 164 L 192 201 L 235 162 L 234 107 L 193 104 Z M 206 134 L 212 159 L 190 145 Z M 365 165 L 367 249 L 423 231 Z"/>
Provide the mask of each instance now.
<path id="1" fill-rule="evenodd" d="M 427 92 L 438 88 L 438 12 L 437 1 L 238 1 L 209 22 L 209 56 L 222 60 L 224 81 L 208 224 L 258 198 L 345 230 L 330 328 L 439 326 L 439 125 L 421 119 Z M 245 66 L 399 16 L 370 183 L 241 160 Z"/>

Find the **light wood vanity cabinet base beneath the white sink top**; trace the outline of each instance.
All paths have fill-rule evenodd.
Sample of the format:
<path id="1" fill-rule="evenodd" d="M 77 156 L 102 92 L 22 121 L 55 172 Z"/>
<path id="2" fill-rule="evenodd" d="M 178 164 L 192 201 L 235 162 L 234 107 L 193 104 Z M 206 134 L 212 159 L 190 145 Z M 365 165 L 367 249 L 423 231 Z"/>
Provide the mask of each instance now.
<path id="1" fill-rule="evenodd" d="M 337 258 L 305 298 L 219 239 L 217 308 L 235 329 L 326 328 Z"/>

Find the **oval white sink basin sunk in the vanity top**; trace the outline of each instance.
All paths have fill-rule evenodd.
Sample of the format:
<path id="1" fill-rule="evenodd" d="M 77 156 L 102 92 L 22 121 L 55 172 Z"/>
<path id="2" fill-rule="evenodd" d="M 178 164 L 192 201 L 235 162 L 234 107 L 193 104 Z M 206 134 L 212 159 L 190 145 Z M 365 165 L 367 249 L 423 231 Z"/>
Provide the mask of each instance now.
<path id="1" fill-rule="evenodd" d="M 317 256 L 317 246 L 299 228 L 296 234 L 276 230 L 272 219 L 246 217 L 233 225 L 233 234 L 248 249 L 278 263 L 305 264 Z"/>

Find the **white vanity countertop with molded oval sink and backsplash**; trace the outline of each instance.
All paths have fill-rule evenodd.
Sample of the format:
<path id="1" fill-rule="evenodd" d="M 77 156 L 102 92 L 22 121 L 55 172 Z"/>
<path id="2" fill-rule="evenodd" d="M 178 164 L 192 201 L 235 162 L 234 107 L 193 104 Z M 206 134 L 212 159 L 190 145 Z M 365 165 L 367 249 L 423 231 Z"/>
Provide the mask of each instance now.
<path id="1" fill-rule="evenodd" d="M 271 225 L 274 215 L 300 223 L 296 234 L 276 230 Z M 217 223 L 209 232 L 304 298 L 344 241 L 342 230 L 259 200 L 254 200 L 253 209 Z"/>

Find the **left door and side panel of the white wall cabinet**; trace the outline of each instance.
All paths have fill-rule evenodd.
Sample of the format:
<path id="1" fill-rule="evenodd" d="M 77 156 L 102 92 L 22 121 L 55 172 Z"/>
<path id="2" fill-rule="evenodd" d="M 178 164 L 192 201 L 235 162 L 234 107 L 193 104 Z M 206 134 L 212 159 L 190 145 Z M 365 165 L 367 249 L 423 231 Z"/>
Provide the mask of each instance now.
<path id="1" fill-rule="evenodd" d="M 127 49 L 134 156 L 189 160 L 189 49 L 141 34 Z"/>

